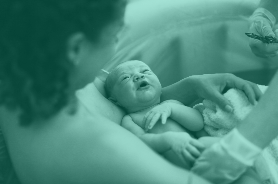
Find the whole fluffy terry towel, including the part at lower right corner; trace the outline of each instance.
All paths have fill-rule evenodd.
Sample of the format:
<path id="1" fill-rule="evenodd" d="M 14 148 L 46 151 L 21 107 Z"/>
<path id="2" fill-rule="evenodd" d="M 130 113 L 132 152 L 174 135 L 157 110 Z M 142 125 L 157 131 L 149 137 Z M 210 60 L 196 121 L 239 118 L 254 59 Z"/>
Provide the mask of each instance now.
<path id="1" fill-rule="evenodd" d="M 268 86 L 258 85 L 258 87 L 262 93 L 264 93 Z M 254 105 L 249 102 L 245 93 L 239 89 L 232 88 L 228 90 L 224 96 L 233 106 L 232 113 L 223 111 L 218 105 L 206 99 L 203 100 L 203 103 L 197 104 L 193 107 L 202 113 L 205 123 L 204 129 L 211 136 L 224 136 L 241 123 L 241 120 L 244 119 L 254 107 Z M 278 137 L 264 149 L 262 156 L 269 167 L 274 183 L 278 184 Z M 263 171 L 262 165 L 259 163 L 257 163 L 257 165 L 256 169 L 261 170 L 258 171 L 258 173 L 261 173 L 261 177 L 267 177 L 268 173 Z"/>

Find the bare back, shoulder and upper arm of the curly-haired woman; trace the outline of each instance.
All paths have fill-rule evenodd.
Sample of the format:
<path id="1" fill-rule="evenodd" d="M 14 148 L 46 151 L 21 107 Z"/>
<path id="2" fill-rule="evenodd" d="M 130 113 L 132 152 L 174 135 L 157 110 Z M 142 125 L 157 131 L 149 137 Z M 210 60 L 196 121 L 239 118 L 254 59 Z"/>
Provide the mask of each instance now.
<path id="1" fill-rule="evenodd" d="M 105 104 L 101 98 L 91 100 Z M 186 181 L 186 171 L 163 160 L 132 133 L 103 117 L 111 109 L 109 105 L 102 107 L 107 107 L 107 111 L 95 108 L 92 115 L 78 103 L 74 116 L 64 109 L 48 121 L 21 127 L 17 113 L 1 106 L 0 126 L 20 181 L 23 184 Z M 120 116 L 117 113 L 109 117 Z M 147 177 L 150 173 L 152 176 Z"/>

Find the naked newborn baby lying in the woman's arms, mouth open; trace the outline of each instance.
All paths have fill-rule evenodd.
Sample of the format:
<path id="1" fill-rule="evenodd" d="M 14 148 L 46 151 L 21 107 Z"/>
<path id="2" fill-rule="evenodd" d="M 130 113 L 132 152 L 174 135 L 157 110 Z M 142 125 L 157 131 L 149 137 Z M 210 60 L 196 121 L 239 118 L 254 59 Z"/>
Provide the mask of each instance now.
<path id="1" fill-rule="evenodd" d="M 160 103 L 161 84 L 145 63 L 120 63 L 109 73 L 105 90 L 108 99 L 128 113 L 121 125 L 171 162 L 191 168 L 205 149 L 191 135 L 203 129 L 201 113 L 177 100 Z"/>

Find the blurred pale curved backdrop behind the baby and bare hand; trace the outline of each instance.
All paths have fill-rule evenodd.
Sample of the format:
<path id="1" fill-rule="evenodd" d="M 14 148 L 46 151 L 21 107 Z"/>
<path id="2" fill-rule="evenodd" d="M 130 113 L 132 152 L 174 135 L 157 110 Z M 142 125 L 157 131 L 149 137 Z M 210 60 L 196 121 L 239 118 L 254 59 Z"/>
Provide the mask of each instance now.
<path id="1" fill-rule="evenodd" d="M 103 69 L 141 60 L 162 87 L 190 75 L 233 73 L 267 85 L 278 57 L 256 57 L 248 44 L 248 17 L 259 0 L 133 0 L 118 35 L 115 57 Z"/>

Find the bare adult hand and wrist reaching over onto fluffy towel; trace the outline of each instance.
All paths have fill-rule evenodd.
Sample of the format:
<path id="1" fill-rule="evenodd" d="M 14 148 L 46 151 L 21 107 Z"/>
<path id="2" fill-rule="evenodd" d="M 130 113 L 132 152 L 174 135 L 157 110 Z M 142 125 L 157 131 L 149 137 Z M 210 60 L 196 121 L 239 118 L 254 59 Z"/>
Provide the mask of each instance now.
<path id="1" fill-rule="evenodd" d="M 243 90 L 252 104 L 262 95 L 256 84 L 230 73 L 220 73 L 194 75 L 167 86 L 162 89 L 160 101 L 175 99 L 188 106 L 198 98 L 205 98 L 231 112 L 233 109 L 230 102 L 222 95 L 228 88 Z"/>

